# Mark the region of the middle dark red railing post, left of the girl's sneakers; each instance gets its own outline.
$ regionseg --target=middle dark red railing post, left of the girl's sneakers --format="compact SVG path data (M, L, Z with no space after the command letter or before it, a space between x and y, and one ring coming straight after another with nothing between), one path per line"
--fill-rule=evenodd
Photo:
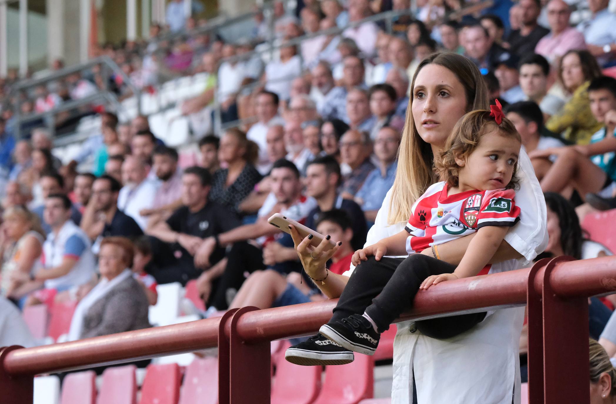
M229 401L225 403L269 404L270 402L272 383L270 342L244 342L237 332L237 322L241 315L253 310L259 309L242 307L233 313L229 320L229 361L227 362L229 363ZM220 351L219 347L219 361L221 361ZM219 404L222 403L219 399Z

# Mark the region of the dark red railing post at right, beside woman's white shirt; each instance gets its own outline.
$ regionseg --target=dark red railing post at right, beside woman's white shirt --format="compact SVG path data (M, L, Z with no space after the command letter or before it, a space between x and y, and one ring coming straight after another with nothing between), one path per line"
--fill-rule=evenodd
M572 257L556 257L543 275L543 374L545 404L589 404L588 297L556 296L550 275ZM532 403L535 404L535 403Z

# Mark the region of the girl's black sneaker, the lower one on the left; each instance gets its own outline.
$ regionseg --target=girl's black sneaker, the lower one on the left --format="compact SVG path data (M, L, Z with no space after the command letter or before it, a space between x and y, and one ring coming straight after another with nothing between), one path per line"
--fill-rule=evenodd
M353 362L355 356L350 350L317 334L289 347L285 352L285 359L302 366L346 365Z

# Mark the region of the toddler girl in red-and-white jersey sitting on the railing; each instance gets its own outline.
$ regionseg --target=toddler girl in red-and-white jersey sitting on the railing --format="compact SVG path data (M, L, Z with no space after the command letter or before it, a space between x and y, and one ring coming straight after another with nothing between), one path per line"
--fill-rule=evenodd
M513 199L521 138L513 123L504 118L498 101L491 110L472 111L456 124L445 151L435 162L443 181L429 187L413 204L405 229L355 252L354 265L373 265L375 270L384 271L395 268L386 286L375 288L366 279L349 293L344 289L332 320L316 336L290 347L285 354L289 362L298 365L352 362L352 352L344 349L372 355L380 334L412 305L416 291L444 280L473 277L488 264L508 228L516 224L520 215ZM457 267L439 261L439 244L474 232L477 235ZM430 249L432 257L415 254L424 249ZM386 254L404 253L410 256L401 262L383 258ZM372 298L368 307L353 307L353 299L345 298L368 295ZM337 320L337 310L357 314ZM452 324L450 329L434 337L463 333L484 317L485 313L471 314L466 321Z

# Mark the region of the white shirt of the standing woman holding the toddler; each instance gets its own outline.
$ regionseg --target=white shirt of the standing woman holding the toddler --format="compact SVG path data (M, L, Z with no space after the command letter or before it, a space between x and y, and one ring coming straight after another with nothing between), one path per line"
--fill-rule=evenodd
M493 264L490 273L527 266L548 244L546 206L532 164L524 151L519 158L521 188L516 192L521 220L505 240L523 257ZM400 232L405 222L387 224L391 190L387 192L366 245ZM344 275L350 276L354 267ZM394 341L392 403L411 403L413 370L420 404L511 404L520 402L519 336L524 309L496 310L466 333L439 340L411 332L412 321L398 324ZM514 388L515 387L515 388Z

